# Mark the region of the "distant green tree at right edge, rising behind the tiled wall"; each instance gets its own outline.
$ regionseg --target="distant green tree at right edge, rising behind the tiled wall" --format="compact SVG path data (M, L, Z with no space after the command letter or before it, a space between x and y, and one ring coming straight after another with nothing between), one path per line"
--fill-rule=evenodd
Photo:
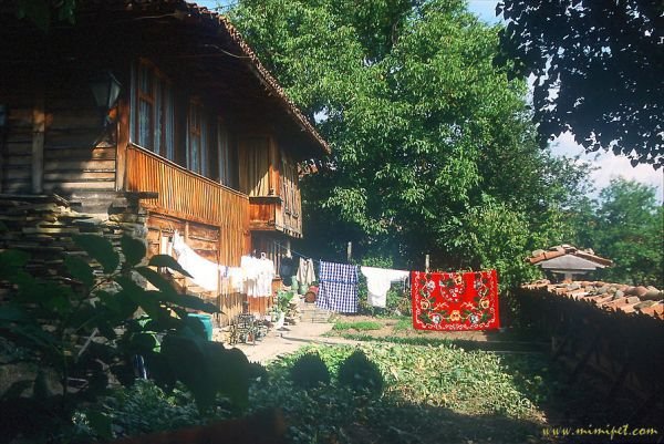
M605 279L664 286L664 213L654 187L612 179L600 193L595 227L592 247L615 262Z

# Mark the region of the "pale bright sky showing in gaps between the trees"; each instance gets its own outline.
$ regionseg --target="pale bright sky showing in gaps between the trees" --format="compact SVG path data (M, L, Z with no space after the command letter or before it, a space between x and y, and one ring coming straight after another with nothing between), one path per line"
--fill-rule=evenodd
M221 4L232 3L232 0L220 0ZM199 6L215 8L217 0L198 0ZM498 0L468 0L470 12L487 23L499 23L496 17L496 4ZM598 152L585 154L583 147L574 142L573 134L564 133L551 142L551 152L556 155L573 157L579 155L581 162L588 162L598 169L592 172L590 179L596 192L606 187L612 178L622 176L626 179L637 180L656 188L660 203L664 202L664 168L655 171L650 165L637 165L633 167L625 156L615 156L611 152Z

